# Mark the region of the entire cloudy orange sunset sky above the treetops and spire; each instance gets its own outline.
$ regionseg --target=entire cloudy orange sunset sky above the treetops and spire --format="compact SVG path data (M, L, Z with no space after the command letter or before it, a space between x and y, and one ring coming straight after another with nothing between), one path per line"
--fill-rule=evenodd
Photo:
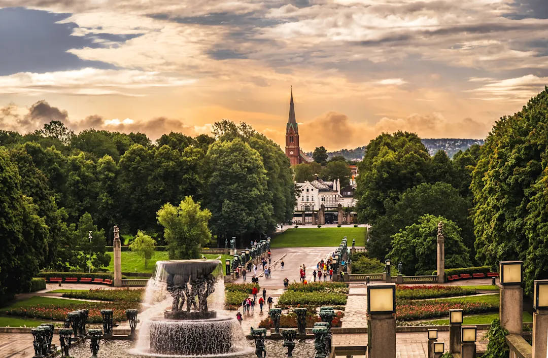
M546 0L0 0L0 129L210 133L301 148L484 138L548 84Z

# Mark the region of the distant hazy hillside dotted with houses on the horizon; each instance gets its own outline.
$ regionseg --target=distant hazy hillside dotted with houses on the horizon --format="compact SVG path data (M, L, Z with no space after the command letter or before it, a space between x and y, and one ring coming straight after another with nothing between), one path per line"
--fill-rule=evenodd
M421 139L430 155L436 154L437 151L445 151L449 158L453 158L459 151L466 151L470 146L474 144L483 145L483 139L459 139L459 138L440 138L440 139ZM347 160L362 160L363 153L366 147L358 147L356 149L341 149L336 152L328 152L329 158L335 155L343 155ZM312 152L306 153L306 155L312 158Z

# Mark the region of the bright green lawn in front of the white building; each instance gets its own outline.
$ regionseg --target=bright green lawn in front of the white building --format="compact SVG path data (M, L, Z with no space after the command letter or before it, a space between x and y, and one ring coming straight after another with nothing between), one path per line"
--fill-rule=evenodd
M367 228L305 228L287 229L272 239L271 247L330 247L339 246L344 236L348 246L356 239L356 246L366 243Z

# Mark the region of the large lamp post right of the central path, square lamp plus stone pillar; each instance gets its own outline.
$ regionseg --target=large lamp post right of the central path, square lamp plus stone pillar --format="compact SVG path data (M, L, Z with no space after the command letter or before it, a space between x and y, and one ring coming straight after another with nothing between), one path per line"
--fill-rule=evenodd
M367 286L369 358L396 358L396 284Z

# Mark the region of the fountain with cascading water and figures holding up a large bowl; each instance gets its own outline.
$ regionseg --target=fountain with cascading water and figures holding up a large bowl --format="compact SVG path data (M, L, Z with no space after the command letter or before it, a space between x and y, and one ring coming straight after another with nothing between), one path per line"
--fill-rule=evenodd
M219 356L250 350L235 317L214 310L224 308L222 264L218 260L158 261L146 289L145 304L151 306L150 312L161 314L158 310L162 309L163 317L142 318L135 354ZM165 305L169 307L165 309Z

